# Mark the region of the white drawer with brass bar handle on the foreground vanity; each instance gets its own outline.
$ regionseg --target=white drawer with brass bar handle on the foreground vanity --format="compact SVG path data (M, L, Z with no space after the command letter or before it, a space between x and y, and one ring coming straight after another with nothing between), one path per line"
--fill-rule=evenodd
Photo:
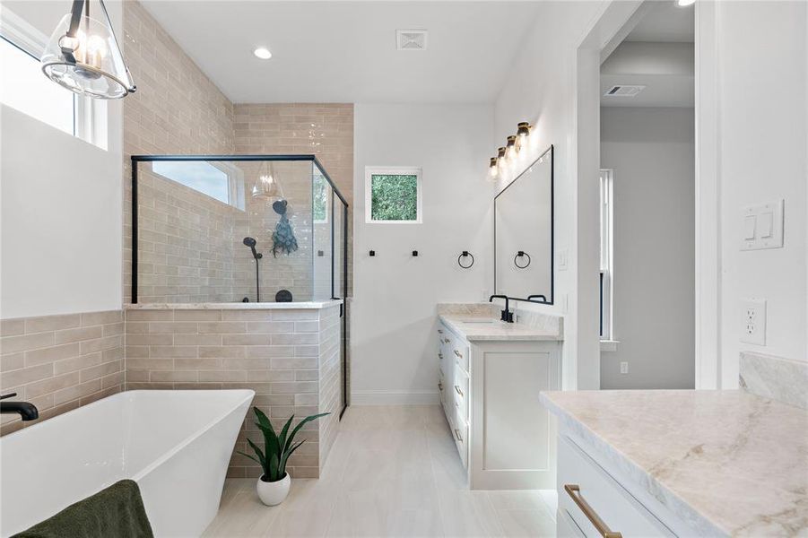
M626 538L674 535L603 467L565 436L559 437L558 487L559 511L566 511L585 536L603 535L606 532L604 526Z

